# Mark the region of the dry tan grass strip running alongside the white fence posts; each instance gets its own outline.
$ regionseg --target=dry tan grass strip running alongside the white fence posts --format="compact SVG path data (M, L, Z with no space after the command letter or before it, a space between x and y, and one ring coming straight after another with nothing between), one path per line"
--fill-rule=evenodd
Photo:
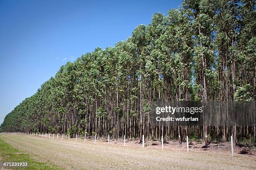
M159 150L87 141L57 140L24 135L0 134L0 138L34 162L61 169L256 169L252 155L230 156L227 152ZM2 142L2 141L0 141ZM2 142L3 143L3 142ZM17 150L10 150L15 154ZM1 159L8 157L1 154ZM15 160L13 157L11 160ZM2 161L1 160L1 161ZM19 160L19 159L18 159ZM17 161L18 161L17 160ZM2 161L2 162L3 162ZM9 161L9 160L8 160ZM39 165L38 165L39 166ZM40 168L38 168L40 169Z

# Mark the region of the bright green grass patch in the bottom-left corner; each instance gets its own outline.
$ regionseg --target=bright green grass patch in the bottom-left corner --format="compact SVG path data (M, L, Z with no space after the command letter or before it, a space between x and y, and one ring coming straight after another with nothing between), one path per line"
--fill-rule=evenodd
M13 148L0 137L0 162L27 162L28 167L21 168L21 170L61 170L61 168L53 165L50 161L46 163L38 162L32 158L33 155L24 153L22 150ZM20 169L20 167L12 167L13 169Z

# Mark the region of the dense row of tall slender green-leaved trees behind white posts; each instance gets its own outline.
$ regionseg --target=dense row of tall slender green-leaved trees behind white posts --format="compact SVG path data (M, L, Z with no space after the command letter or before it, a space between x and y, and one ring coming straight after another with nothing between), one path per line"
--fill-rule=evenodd
M10 112L0 131L166 140L256 138L255 127L154 126L150 103L255 100L254 0L184 0L155 13L126 41L96 48L61 66ZM207 144L207 138L205 138Z

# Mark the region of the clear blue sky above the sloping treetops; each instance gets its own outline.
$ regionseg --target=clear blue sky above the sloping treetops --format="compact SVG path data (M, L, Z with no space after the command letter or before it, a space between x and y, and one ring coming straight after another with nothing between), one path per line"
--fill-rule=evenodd
M0 124L67 61L126 40L181 0L0 0Z

